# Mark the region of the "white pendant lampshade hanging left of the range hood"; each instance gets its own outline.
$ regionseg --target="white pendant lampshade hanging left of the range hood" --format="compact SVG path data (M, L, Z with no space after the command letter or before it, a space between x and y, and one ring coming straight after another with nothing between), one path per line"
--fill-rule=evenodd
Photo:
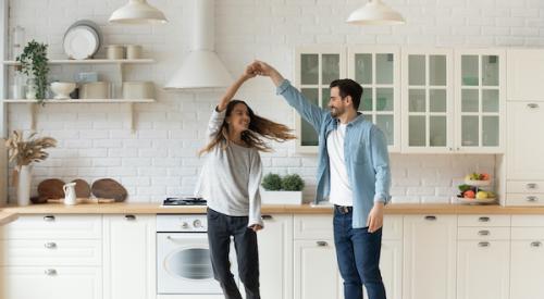
M146 0L128 0L128 3L111 14L108 22L120 24L156 24L168 23L168 20L160 10L149 5Z

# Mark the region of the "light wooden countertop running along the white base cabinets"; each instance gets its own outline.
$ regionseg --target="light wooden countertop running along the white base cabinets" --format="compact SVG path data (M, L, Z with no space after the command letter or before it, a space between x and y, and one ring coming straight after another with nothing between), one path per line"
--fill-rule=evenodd
M160 203L82 203L64 205L60 203L32 204L28 207L4 207L0 215L7 214L196 214L205 213L206 207L163 208ZM332 207L263 205L263 214L330 214ZM467 205L445 203L392 203L385 214L543 214L544 207L500 207Z

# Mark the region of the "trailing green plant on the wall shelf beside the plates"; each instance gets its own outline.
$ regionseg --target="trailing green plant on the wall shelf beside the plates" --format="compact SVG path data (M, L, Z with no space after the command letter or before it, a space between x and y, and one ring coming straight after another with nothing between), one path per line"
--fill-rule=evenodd
M47 74L49 72L49 59L47 58L47 45L32 40L23 49L23 53L16 58L21 62L21 71L27 76L27 99L36 99L44 104L47 91Z

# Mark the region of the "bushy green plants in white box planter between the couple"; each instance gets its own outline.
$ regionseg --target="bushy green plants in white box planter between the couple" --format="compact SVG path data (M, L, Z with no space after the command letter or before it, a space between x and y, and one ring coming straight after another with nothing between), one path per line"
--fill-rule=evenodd
M264 204L301 204L305 182L298 174L281 177L269 173L262 178L261 201Z

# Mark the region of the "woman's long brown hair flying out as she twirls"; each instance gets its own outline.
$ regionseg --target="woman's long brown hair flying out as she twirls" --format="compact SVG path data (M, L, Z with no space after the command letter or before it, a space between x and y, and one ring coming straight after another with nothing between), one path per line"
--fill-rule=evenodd
M263 140L262 137L274 140L279 142L283 142L289 139L295 139L296 136L290 132L292 129L286 125L282 125L264 117L261 117L254 113L251 108L245 102L240 100L232 100L226 105L226 114L221 128L218 134L213 137L213 139L201 149L198 154L202 154L205 152L211 151L214 147L218 147L222 144L223 149L226 148L228 144L228 124L226 123L226 119L231 115L234 110L234 107L238 103L245 104L249 114L249 126L247 130L242 133L242 140L249 148L256 148L259 151L272 151Z

